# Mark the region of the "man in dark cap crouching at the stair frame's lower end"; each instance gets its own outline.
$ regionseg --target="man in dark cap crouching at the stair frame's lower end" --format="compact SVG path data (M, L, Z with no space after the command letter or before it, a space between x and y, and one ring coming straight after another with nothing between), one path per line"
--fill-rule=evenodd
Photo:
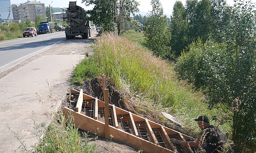
M202 144L203 149L207 153L219 153L222 152L224 149L224 145L227 142L227 137L221 131L218 126L212 126L209 123L209 119L206 116L199 116L197 121L198 126L202 130L201 133L198 135L197 139L194 141L180 141L177 139L170 139L175 144L196 147L199 143ZM227 149L227 148L226 148ZM233 152L233 149L229 147L227 153Z

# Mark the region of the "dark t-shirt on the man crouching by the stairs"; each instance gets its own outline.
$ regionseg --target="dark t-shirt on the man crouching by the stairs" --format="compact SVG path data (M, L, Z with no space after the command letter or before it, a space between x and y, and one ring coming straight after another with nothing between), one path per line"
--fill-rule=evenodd
M219 151L223 151L224 144L227 142L227 137L218 126L207 126L199 135L202 136L202 146L207 153L219 153ZM231 152L233 150L230 148L227 153Z

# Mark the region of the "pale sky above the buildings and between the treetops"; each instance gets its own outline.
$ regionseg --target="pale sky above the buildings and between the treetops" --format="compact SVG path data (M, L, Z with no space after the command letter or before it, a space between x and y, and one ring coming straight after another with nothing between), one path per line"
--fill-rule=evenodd
M32 0L30 0L32 1ZM59 8L67 8L69 7L69 1L72 0L36 0L37 2L40 1L41 3L45 3L45 6L51 5L52 7L59 7ZM75 0L73 0L75 1ZM159 0L159 2L162 4L163 12L169 17L173 12L174 4L177 0ZM19 3L25 3L26 0L11 0L11 4L19 4ZM138 7L140 11L142 12L148 12L152 11L151 6L151 0L137 0L137 2L140 3L140 6ZM186 0L181 0L182 4L185 5ZM78 0L76 2L78 6L83 7L84 9L88 10L92 7L85 7L84 4L81 3L81 0ZM233 0L227 0L228 5L233 5Z

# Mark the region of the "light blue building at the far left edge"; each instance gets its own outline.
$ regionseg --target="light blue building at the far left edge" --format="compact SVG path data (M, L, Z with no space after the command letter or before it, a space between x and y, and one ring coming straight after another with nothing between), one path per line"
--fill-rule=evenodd
M9 13L10 13L10 17L12 19L11 1L10 0L0 0L0 21L7 20Z

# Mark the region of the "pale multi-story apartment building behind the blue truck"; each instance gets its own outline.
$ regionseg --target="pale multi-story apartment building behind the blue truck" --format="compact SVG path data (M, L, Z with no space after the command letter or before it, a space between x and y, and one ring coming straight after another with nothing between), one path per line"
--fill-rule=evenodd
M36 15L46 18L45 4L40 1L28 1L18 6L15 5L12 7L12 13L14 20L26 21L26 19L29 18L32 22L35 22Z

